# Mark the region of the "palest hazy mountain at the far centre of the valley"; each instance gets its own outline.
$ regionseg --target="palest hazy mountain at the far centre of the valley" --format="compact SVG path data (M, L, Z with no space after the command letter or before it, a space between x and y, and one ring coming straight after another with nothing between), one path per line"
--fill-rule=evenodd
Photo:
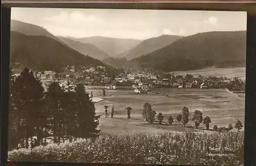
M108 53L112 57L117 57L119 53L131 49L132 47L139 44L140 40L135 39L117 39L109 37L88 37L88 38L71 38L73 40L93 44L104 52Z

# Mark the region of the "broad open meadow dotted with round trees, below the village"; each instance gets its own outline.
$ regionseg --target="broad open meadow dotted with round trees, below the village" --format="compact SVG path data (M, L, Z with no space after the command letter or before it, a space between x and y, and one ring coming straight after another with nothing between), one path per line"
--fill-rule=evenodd
M94 90L95 93L101 93L101 90ZM211 118L210 128L214 125L228 126L240 120L244 123L244 105L245 94L238 93L236 95L221 89L153 89L159 92L158 95L153 94L129 94L132 90L106 90L106 97L103 101L96 103L96 113L101 115L100 129L102 132L120 133L120 132L154 132L158 130L184 131L186 128L179 125L176 120L177 114L181 113L182 107L187 106L190 112L190 118L194 111L201 110L203 117ZM156 113L163 113L164 122L169 116L173 116L175 122L172 126L148 124L143 121L141 112L143 104L148 102L152 104L152 108ZM105 118L104 105L109 105L109 114L111 114L112 106L114 106L114 118ZM127 119L125 108L131 106L131 119ZM188 126L194 126L190 120ZM203 124L199 128L205 128ZM191 129L191 128L188 128ZM196 130L196 129L192 129ZM202 130L197 130L202 131Z

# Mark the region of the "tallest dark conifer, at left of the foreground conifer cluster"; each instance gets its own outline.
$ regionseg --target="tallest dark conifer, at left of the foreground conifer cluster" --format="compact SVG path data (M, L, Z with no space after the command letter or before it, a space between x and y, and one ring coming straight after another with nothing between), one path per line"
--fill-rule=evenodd
M40 103L44 96L44 88L40 80L28 68L24 68L12 83L11 108L15 109L14 113L17 118L16 122L14 121L17 127L17 142L24 144L23 140L25 140L25 148L29 148L29 140L33 145L33 136L39 136L40 123L38 121L41 115Z

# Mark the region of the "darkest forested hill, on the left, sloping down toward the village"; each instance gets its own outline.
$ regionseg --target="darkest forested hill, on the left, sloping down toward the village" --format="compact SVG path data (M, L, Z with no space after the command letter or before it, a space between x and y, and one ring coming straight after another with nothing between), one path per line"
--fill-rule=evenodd
M46 36L28 36L11 31L11 67L59 72L67 65L106 66Z

